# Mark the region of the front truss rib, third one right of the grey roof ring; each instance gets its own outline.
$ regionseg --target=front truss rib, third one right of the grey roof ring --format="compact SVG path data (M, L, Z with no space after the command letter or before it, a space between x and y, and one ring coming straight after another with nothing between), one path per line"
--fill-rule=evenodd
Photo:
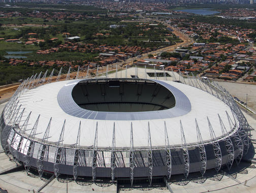
M233 162L234 162L234 156L235 156L234 146L233 146L233 143L232 143L232 141L231 141L231 139L228 135L228 132L226 130L226 127L223 124L219 114L218 114L218 117L219 117L219 124L220 124L220 127L221 127L222 135L225 136L224 141L225 141L226 148L227 148L227 151L228 151L227 167L230 170L232 165L233 165Z

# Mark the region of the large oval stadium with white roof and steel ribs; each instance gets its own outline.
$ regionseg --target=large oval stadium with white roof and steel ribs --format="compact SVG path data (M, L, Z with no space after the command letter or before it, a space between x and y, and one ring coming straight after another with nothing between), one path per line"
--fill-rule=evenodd
M215 82L137 67L54 82L40 75L1 115L1 144L27 172L151 184L230 169L248 152L250 126Z

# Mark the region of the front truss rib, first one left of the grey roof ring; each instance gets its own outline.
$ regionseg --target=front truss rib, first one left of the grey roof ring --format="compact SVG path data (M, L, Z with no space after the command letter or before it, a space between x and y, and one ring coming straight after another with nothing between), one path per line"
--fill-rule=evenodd
M51 120L52 118L50 118L50 121L47 125L46 131L44 133L44 137L40 143L40 147L38 150L38 156L37 156L37 169L38 169L38 173L40 175L40 177L42 178L43 173L44 173L44 165L43 162L46 161L48 159L48 147L46 145L46 143L48 142L49 137L49 132L50 132L50 127L51 127Z

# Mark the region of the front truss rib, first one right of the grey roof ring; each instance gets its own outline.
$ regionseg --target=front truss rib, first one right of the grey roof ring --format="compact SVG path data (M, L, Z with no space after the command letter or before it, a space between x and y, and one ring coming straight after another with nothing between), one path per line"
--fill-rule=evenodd
M200 162L201 162L201 168L200 168L200 173L202 174L202 176L205 174L206 171L206 164L207 164L207 157L206 157L206 151L205 151L205 147L204 147L204 142L201 136L201 132L198 126L198 122L197 119L195 119L196 121L196 128L197 128L197 140L198 140L198 148L199 148L199 153L200 153Z

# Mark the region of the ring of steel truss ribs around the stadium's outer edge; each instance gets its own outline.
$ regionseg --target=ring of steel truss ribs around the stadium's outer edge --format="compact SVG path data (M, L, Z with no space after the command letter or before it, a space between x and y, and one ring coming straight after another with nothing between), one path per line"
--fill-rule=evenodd
M58 73L58 77L57 77L56 81L58 81L60 79L61 69ZM71 67L69 68L69 72L66 77L66 80L70 79L70 70L71 70ZM116 65L116 77L117 77L117 71L118 71L118 66ZM164 71L164 78L165 78L165 80L167 80L167 77L165 74L165 69L163 69L163 71ZM54 69L51 72L51 75L48 78L47 82L51 82L53 72L54 72ZM86 77L88 75L88 72L89 72L89 66L87 69ZM135 73L136 73L135 75L138 76L137 66L135 67ZM173 70L172 70L172 73L173 73L174 79L176 80ZM26 117L25 120L22 120L22 117L24 117L23 114L24 114L25 109L23 109L22 112L20 113L21 105L19 106L19 101L17 101L17 99L20 96L20 94L22 94L23 92L26 91L26 89L34 88L37 85L39 85L40 83L43 83L43 81L45 81L45 79L46 79L46 75L47 75L47 71L45 72L41 81L40 81L40 77L41 77L41 73L40 73L38 76L36 74L36 75L31 76L30 78L26 79L24 82L22 82L22 84L17 88L13 97L10 99L10 101L8 102L8 104L6 105L6 107L4 109L4 116L5 116L4 118L7 118L7 120L9 119L9 123L7 125L12 125L11 130L10 130L10 128L5 126L5 128L2 132L2 136L4 135L3 133L5 133L5 134L7 133L7 129L9 132L5 139L4 149L7 152L10 149L9 147L14 146L14 144L15 144L15 148L12 148L12 154L13 154L14 158L19 158L18 152L23 151L23 154L24 154L23 155L23 158L24 158L23 165L26 170L26 173L29 172L30 159L34 154L35 136L38 135L36 132L37 132L40 115L38 116L33 128L27 129L31 112L28 114L28 116ZM79 68L78 68L76 78L78 78L78 75L79 75ZM179 72L179 75L181 76L180 72ZM219 86L215 82L210 82L208 80L201 80L198 76L196 78L193 73L192 73L193 79L191 79L188 76L187 72L186 72L186 75L187 75L186 82L185 82L185 79L183 78L183 76L182 76L182 78L179 76L180 80L183 79L182 82L184 84L200 88L200 89L210 93L211 95L214 95L219 100L226 103L232 110L234 122L231 119L231 117L229 116L228 112L226 111L230 129L231 129L231 131L234 131L231 137L229 136L227 129L226 129L225 125L223 124L221 117L218 114L220 128L221 128L221 132L222 132L222 136L223 136L223 139L221 139L221 140L223 142L225 142L225 146L226 146L227 153L228 153L226 165L227 165L228 169L230 170L233 165L234 159L235 159L236 163L239 164L242 156L246 155L246 153L248 152L249 145L250 145L250 126L249 126L248 122L246 121L240 108L238 107L238 105L236 104L236 102L231 97L231 95L227 92L226 89ZM97 67L97 73L96 73L97 78L98 78L98 76L99 76L99 66ZM108 76L108 66L107 66L107 71L106 71L106 77L107 76ZM154 68L154 76L157 79L157 74L156 74L155 68ZM125 77L127 77L127 66L125 66ZM146 74L146 66L145 66L145 78L146 77L147 77L147 74ZM51 125L51 120L52 119L50 119L50 121L48 123L46 131L44 133L44 137L40 143L40 147L39 147L39 151L38 151L38 155L37 155L37 158L38 158L37 168L38 168L40 177L42 177L43 172L44 172L44 162L48 162L49 145L47 143L48 143L48 139L50 138L49 130L50 130L50 125ZM214 150L214 156L215 156L214 168L216 171L219 171L221 168L221 164L222 164L221 148L219 145L219 141L217 141L217 138L215 136L214 130L212 128L212 125L211 125L208 117L207 117L207 121L208 121L208 126L209 126L209 131L210 131L211 144L212 144L212 147ZM199 153L200 153L200 162L201 162L200 173L203 176L206 172L206 166L207 166L206 149L204 146L204 142L203 142L203 139L201 136L201 132L199 129L197 119L195 119L195 122L196 122L196 130L197 130L197 146L196 147L198 147ZM21 123L22 123L22 126L19 127L19 125ZM66 155L65 155L66 152L65 152L65 148L63 148L63 136L64 136L64 131L65 131L65 124L66 124L66 120L63 123L62 130L61 130L61 133L59 136L59 140L58 140L57 146L56 146L55 156L54 156L54 175L56 177L58 177L60 174L59 166L62 164L63 165L66 164ZM10 137L10 132L12 131L12 128L15 130L16 134L13 137ZM172 154L171 154L171 147L170 147L170 143L169 143L169 137L168 137L167 126L166 126L165 121L164 121L164 130L165 130L165 151L166 151L166 156L167 156L166 176L168 179L170 179L171 174L172 174ZM187 176L189 174L190 160L189 160L188 146L186 144L181 120L180 120L180 130L181 130L181 149L182 149L182 154L183 154L183 159L184 159L183 174L184 174L185 178L187 178ZM25 138L25 133L27 133L28 131L30 131L30 134L27 138ZM78 134L77 134L77 141L75 144L75 152L74 152L73 175L74 175L75 180L78 177L78 166L86 166L86 160L85 160L85 158L83 158L84 155L82 154L83 151L80 150L80 131L81 131L81 121L79 123L79 130L78 130ZM8 141L10 141L10 145L8 144ZM234 145L233 145L232 141L234 142ZM24 146L24 148L23 148L23 146ZM130 136L129 153L130 153L129 154L130 155L129 156L130 180L131 180L131 185L133 186L134 169L135 169L135 163L137 162L137 159L135 159L134 139L133 139L133 123L132 122L131 122L131 136ZM115 180L116 167L122 166L121 165L122 163L120 164L120 160L119 160L120 154L121 154L121 152L116 151L115 122L114 122L113 135L112 135L111 163L110 163L112 181ZM102 151L100 151L100 150L98 151L98 122L97 122L96 130L95 130L95 137L94 137L94 144L93 144L93 157L92 157L92 179L93 179L93 181L97 177L97 167L106 167L106 163L105 163L106 158L104 158L104 156L105 156L105 154ZM152 152L149 122L148 122L147 159L148 159L148 178L149 178L149 183L151 185L152 177L153 177L153 152ZM225 161L223 161L223 162L225 162Z

